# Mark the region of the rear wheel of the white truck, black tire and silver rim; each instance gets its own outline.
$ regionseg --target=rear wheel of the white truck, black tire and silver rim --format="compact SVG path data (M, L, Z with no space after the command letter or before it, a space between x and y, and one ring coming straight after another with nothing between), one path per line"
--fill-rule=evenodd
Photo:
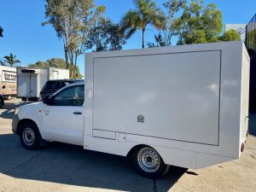
M163 177L170 166L166 165L154 148L140 146L131 154L131 162L136 171L143 177Z

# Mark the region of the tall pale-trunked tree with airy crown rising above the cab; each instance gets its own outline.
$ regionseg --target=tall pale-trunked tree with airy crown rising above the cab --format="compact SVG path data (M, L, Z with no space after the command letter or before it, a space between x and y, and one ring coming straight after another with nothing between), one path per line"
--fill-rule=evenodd
M105 11L104 6L96 6L94 0L46 0L45 18L42 25L52 25L57 36L63 39L66 68L77 65L77 58L83 54L90 29ZM71 72L76 73L76 72Z

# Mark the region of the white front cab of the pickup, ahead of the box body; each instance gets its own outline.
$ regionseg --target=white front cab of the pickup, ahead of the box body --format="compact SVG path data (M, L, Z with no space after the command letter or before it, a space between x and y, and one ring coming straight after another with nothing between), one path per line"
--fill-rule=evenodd
M39 128L40 135L48 141L59 141L83 146L84 132L84 83L74 83L57 91L44 102L35 102L16 108L13 124L20 119L31 119ZM61 121L60 121L61 120ZM20 130L13 131L20 134ZM35 137L24 135L24 144ZM31 146L30 148L35 148Z

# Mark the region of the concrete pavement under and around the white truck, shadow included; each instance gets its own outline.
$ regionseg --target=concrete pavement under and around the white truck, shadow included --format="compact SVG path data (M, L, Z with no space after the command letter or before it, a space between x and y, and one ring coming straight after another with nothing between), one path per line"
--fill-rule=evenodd
M256 114L239 160L200 170L172 167L158 180L141 177L124 157L52 143L21 147L11 131L14 101L0 109L0 191L256 191Z

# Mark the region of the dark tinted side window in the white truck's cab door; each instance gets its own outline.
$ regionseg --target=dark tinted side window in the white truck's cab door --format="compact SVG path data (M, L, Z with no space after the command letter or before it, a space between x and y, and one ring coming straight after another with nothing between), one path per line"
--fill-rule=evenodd
M55 96L55 106L82 106L84 103L84 85L69 87Z

